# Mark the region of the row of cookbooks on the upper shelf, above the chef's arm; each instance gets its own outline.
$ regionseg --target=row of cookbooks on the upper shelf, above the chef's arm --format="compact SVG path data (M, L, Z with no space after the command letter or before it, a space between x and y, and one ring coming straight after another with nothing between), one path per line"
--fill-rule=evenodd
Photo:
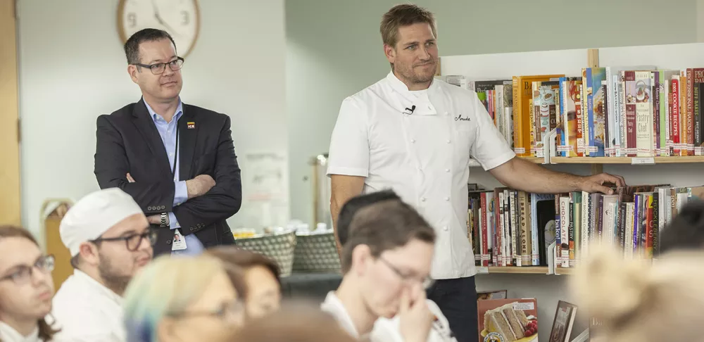
M583 68L581 75L522 75L451 84L477 92L494 123L522 157L543 157L557 128L563 157L701 156L704 68L654 65Z

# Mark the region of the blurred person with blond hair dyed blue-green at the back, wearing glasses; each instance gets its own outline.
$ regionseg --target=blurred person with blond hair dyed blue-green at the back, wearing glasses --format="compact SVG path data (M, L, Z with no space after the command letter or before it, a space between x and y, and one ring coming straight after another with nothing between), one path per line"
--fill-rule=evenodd
M244 304L209 255L162 255L125 292L130 342L229 342L243 322Z

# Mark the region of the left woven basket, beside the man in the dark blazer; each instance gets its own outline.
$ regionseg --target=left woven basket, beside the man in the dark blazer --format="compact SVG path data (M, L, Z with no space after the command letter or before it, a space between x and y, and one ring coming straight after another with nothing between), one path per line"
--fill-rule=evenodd
M234 239L234 243L245 251L260 253L274 260L279 265L281 277L291 275L296 248L295 231L238 238Z

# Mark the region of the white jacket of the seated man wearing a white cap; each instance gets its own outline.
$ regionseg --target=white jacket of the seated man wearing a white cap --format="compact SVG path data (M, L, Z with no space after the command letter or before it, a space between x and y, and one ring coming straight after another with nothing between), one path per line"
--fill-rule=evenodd
M125 342L122 297L74 270L56 292L53 315L61 331L54 341Z

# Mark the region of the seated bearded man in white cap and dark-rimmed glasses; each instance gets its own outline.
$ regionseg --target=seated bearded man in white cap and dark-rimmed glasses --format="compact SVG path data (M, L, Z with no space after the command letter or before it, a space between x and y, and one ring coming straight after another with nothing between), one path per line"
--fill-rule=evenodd
M83 197L59 226L73 274L54 297L58 341L125 341L122 296L152 258L155 235L142 209L112 188Z

